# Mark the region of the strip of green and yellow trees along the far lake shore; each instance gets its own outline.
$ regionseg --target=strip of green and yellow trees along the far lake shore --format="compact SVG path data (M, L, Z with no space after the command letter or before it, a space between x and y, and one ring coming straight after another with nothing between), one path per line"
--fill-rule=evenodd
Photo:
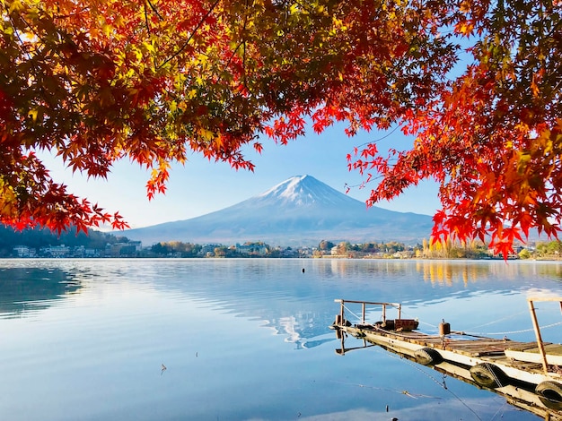
M41 247L66 245L69 248L107 249L108 245L128 245L127 236L90 230L62 233L58 236L48 229L14 230L0 227L0 257L14 255L14 247L25 245L39 250ZM125 250L125 248L124 248ZM332 242L322 239L316 247L271 246L264 242L246 242L238 245L199 245L189 242L159 242L135 253L121 253L124 257L322 257L337 256L349 258L426 258L426 259L485 259L493 257L487 245L481 241L467 243L435 242L424 239L421 244L406 245L397 241L364 242L352 244L348 241ZM562 254L559 240L538 242L525 247L519 246L512 257L520 259L558 259ZM117 254L119 256L119 252ZM111 255L115 257L116 255Z

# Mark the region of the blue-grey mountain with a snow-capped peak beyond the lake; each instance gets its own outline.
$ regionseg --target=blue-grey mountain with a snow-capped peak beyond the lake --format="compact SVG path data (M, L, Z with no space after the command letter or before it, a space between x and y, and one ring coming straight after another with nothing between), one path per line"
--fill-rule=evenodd
M313 176L294 176L265 193L222 211L137 228L121 234L145 245L159 241L269 245L318 245L332 242L402 241L428 237L427 215L387 211L357 201Z

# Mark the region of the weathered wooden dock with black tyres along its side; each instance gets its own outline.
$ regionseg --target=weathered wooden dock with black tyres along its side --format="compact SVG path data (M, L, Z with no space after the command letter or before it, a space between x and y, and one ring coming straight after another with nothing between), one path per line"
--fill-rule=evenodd
M558 368L562 362L562 345L543 342L534 311L536 301L558 301L562 309L562 297L528 300L536 342L467 335L451 331L445 322L439 326L439 335L430 335L417 331L417 320L401 318L400 304L342 299L336 300L340 303L340 312L329 328L342 339L339 354L346 352L343 347L345 336L364 339L419 364L494 390L506 399L528 402L531 408L548 411L546 416L538 415L562 420L562 370ZM353 324L346 319L347 305L361 305L359 322ZM380 321L365 321L367 305L382 308ZM398 312L395 319L387 317L391 308ZM553 414L557 417L553 418Z

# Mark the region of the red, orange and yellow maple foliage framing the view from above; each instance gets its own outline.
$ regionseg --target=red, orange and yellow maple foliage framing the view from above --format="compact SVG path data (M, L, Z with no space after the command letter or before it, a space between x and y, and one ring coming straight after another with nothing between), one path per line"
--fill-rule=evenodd
M507 251L560 223L560 4L451 0L0 0L0 220L78 229L110 215L36 152L105 177L118 159L165 190L195 150L251 170L245 147L400 129L349 166L368 204L434 178L434 237Z

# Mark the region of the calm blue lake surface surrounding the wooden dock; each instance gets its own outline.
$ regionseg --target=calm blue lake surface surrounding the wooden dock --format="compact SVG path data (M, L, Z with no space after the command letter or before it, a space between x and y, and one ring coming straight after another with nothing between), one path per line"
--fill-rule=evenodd
M0 260L0 419L539 419L379 347L340 356L328 326L334 299L390 301L423 331L534 340L544 295L562 264ZM557 305L537 305L552 342Z

